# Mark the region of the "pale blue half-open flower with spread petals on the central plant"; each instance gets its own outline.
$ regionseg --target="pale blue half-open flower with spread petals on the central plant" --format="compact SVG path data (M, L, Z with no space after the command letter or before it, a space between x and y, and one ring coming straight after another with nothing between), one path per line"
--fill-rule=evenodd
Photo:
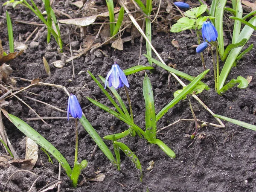
M126 87L129 87L125 73L120 69L119 65L116 62L114 62L114 64L111 67L111 70L108 72L105 81L105 88L107 85L107 81L109 87L113 85L115 89L123 87L124 84Z

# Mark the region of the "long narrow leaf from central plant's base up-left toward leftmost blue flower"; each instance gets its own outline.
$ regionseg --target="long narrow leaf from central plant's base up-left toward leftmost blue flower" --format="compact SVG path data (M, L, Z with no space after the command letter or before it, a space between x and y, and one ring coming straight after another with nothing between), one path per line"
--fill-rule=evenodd
M139 132L147 141L150 141L149 137L145 134L145 132L140 127L131 122L131 120L125 118L124 116L121 116L119 113L116 113L116 111L113 111L112 109L108 108L105 105L102 105L100 102L97 102L94 99L91 99L90 97L86 98L94 105L98 106L99 108L102 108L103 110L107 111L108 113L111 113L113 116L117 117L121 121L130 125L136 132Z

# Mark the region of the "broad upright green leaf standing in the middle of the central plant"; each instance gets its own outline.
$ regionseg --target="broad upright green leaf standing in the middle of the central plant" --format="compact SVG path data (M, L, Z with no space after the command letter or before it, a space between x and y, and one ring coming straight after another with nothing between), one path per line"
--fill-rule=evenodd
M150 80L147 73L145 73L143 81L143 96L145 99L145 133L148 135L150 140L156 139L157 134L157 122L156 122L156 113L154 107L154 95Z

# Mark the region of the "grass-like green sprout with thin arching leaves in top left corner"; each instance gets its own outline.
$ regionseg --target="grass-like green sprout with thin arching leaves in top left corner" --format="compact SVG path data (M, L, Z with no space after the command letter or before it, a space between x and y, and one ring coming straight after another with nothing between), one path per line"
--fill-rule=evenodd
M47 43L50 42L50 34L52 34L53 37L55 38L55 41L57 42L58 46L60 47L60 50L62 51L61 33L60 33L57 19L55 17L55 14L52 10L51 5L50 5L50 1L49 0L42 0L42 1L44 2L45 10L47 12L47 20L44 18L44 16L42 15L42 13L38 9L38 7L35 5L35 2L33 0L30 0L30 2L32 3L32 6L34 8L31 5L29 5L29 3L26 0L19 0L19 1L9 0L9 1L6 1L6 3L3 3L3 6L5 6L9 3L12 3L12 7L15 7L18 4L21 4L21 5L29 8L47 26L47 30L48 30ZM52 21L55 24L56 32L52 27Z

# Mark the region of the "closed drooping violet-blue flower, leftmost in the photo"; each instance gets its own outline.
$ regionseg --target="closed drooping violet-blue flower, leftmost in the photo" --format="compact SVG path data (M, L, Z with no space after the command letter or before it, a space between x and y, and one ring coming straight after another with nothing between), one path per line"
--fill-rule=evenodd
M67 120L69 120L69 114L74 118L81 119L82 109L75 95L70 94L67 103Z

